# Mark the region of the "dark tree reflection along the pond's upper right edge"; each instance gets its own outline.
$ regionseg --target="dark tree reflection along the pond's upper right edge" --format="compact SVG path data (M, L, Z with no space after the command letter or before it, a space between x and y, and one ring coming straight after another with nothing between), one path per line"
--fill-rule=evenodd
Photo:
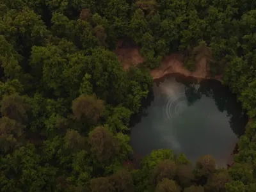
M214 99L220 112L227 111L228 121L234 134L237 137L244 134L248 115L243 110L241 102L237 100L236 94L232 93L227 86L214 79L205 79L199 84L193 77L175 76L175 80L184 84L189 106L201 99L203 95Z

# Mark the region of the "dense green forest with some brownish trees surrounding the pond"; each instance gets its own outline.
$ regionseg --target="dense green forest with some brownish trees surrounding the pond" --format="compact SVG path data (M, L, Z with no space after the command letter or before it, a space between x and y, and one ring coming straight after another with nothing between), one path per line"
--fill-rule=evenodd
M256 1L0 0L0 191L256 191ZM124 70L132 41L145 61ZM250 121L230 168L154 150L134 165L131 117L172 52L222 76Z

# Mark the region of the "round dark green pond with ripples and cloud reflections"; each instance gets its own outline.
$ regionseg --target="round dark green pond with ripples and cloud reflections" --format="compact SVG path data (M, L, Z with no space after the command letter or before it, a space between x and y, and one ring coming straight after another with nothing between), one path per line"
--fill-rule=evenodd
M169 76L154 83L154 97L131 129L131 145L140 156L170 148L195 162L211 154L218 166L230 162L248 117L236 95L215 80Z

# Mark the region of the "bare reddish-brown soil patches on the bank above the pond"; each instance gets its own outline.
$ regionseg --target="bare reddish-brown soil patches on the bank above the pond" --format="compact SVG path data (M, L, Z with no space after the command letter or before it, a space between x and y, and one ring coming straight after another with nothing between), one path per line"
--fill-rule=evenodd
M120 46L122 46L122 43L120 43ZM117 54L118 60L122 63L124 70L143 62L143 57L140 55L138 47L121 47L116 49L114 52ZM206 64L206 59L202 58L198 61L195 72L190 72L188 69L183 67L181 54L171 54L164 58L162 65L152 70L150 74L153 79L159 79L168 74L182 74L184 76L195 77L197 79L217 79L220 81L220 76L208 76Z

